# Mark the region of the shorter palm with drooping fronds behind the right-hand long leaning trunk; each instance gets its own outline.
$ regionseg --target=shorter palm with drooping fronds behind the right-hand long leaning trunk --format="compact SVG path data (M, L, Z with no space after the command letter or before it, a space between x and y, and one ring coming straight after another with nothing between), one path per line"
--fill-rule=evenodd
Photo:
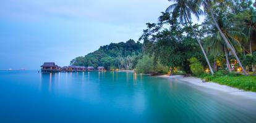
M224 35L228 38L229 42L239 52L242 52L241 43L242 41L247 40L247 36L239 31L236 27L231 26L230 23L225 23L227 21L223 20L223 18L218 18L218 25L220 25L221 30L223 31ZM210 20L205 20L203 23L205 26L210 27L210 38L205 39L205 47L206 49L210 50L210 53L213 55L220 55L224 54L226 57L226 64L229 71L231 71L229 59L228 59L228 50L226 47L226 43L221 38L220 32L215 28L210 26ZM204 28L207 28L204 27Z

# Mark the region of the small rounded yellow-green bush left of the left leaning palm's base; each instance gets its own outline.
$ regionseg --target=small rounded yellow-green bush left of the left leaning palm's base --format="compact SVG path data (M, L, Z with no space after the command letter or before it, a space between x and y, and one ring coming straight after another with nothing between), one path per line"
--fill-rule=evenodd
M189 59L189 62L192 74L194 74L195 76L200 76L201 74L203 74L203 65L197 60L197 58L192 57Z

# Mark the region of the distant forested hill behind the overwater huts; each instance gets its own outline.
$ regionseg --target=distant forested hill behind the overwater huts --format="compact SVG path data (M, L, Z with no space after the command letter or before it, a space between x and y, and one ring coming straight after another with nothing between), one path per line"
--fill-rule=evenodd
M142 54L142 44L130 39L127 42L111 43L100 49L77 57L70 65L104 66L106 69L134 69Z

